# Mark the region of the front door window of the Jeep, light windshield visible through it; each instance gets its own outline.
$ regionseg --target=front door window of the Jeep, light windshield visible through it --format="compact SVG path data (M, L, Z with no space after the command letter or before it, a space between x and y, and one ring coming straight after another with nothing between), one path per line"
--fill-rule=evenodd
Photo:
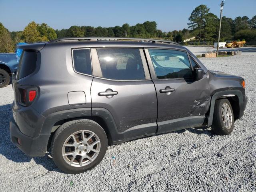
M192 78L188 54L177 50L149 49L158 79Z

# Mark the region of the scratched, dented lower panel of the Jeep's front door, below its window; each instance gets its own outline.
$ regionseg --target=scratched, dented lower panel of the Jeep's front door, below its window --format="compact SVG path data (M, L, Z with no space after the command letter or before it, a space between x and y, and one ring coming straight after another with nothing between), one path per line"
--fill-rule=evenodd
M153 80L158 96L158 120L162 122L189 116L205 116L210 106L210 86L207 75L201 80ZM171 94L160 93L166 86Z

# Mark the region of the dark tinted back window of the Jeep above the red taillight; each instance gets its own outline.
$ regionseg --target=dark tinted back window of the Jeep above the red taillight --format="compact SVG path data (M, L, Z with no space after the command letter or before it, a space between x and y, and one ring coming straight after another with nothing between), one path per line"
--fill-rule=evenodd
M36 52L23 51L20 57L17 79L24 78L36 70Z

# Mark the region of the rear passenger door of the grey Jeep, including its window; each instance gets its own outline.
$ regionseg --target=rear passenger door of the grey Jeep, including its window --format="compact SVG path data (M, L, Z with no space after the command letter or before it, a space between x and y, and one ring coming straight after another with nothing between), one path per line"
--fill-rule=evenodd
M157 99L142 49L91 49L92 110L104 108L128 138L156 132ZM114 129L114 128L113 128Z

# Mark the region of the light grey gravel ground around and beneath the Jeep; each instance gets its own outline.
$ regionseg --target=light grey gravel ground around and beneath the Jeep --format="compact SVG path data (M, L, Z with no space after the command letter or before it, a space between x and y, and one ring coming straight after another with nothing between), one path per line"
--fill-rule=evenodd
M256 191L256 54L200 60L246 80L248 106L231 135L189 128L110 146L83 174L64 174L49 154L29 158L10 142L13 91L0 89L0 191Z

